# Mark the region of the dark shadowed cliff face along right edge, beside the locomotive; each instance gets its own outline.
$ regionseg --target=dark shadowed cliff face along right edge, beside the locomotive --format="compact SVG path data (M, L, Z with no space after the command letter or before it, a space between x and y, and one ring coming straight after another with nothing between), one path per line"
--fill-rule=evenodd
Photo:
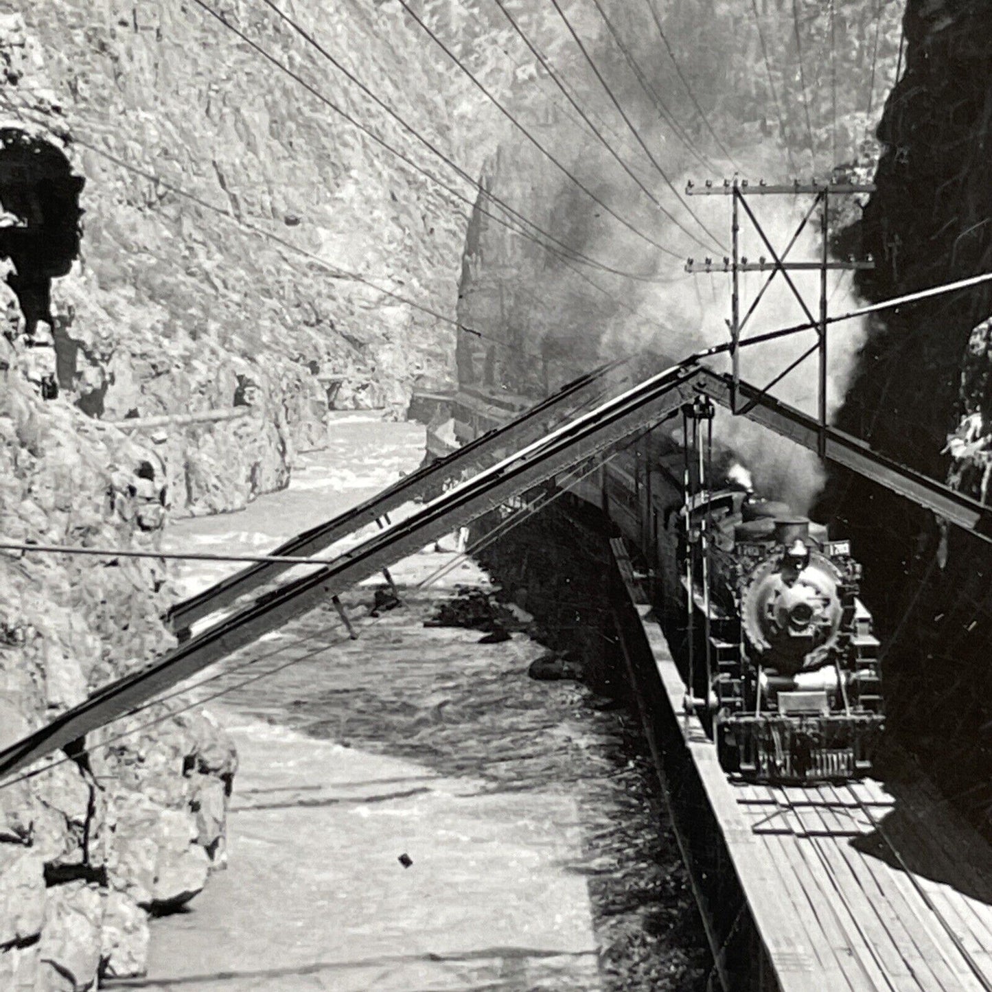
M992 261L987 11L911 0L905 27L905 71L879 128L878 192L849 232L878 262L859 281L871 299L987 272ZM986 503L990 303L977 288L886 313L840 416L876 448ZM824 507L863 549L866 598L891 642L891 722L987 825L988 546L856 478L834 476Z

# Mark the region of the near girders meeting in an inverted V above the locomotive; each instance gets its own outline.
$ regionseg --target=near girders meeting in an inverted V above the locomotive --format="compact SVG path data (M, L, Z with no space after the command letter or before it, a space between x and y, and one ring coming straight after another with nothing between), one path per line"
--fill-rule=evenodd
M740 389L748 400L756 401L749 419L816 449L819 428L815 420L746 383L741 383ZM731 380L686 361L538 438L456 485L407 520L392 524L332 563L263 594L145 670L104 686L51 723L3 749L0 777L12 775L84 737L444 534L601 455L631 434L650 428L677 413L700 391L729 406ZM505 435L502 442L506 442ZM826 456L992 541L992 513L988 509L949 486L885 458L857 438L829 429Z

